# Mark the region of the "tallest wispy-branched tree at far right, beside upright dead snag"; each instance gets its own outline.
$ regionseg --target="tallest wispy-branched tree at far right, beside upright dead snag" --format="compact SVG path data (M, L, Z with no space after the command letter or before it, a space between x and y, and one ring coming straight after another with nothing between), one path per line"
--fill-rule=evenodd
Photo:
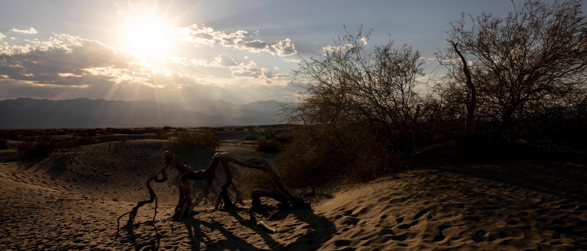
M470 60L475 117L497 122L500 140L515 140L517 121L585 99L587 19L581 1L527 1L505 18L463 14L451 25L450 40ZM467 104L463 62L453 47L437 54L448 74L436 87L444 101Z

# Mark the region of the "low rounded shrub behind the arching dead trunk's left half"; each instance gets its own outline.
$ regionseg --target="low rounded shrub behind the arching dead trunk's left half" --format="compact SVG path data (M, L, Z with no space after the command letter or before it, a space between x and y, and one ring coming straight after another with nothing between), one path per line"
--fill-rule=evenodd
M180 133L167 142L167 148L203 148L214 150L220 146L220 140L212 133Z

